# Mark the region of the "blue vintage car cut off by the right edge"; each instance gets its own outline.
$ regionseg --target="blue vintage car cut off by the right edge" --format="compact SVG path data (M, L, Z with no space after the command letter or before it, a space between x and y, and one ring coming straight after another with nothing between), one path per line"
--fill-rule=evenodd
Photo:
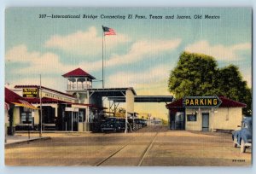
M233 146L235 148L240 146L241 153L245 153L246 148L252 147L252 125L252 118L244 117L241 121L241 130L232 133Z

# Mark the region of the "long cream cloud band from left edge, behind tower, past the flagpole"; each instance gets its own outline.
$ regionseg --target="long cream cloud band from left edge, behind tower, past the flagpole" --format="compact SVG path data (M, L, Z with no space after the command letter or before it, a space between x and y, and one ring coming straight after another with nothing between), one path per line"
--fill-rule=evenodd
M142 61L147 59L149 55L155 55L154 58L157 59L161 53L172 51L176 49L181 43L180 39L176 40L148 40L148 41L138 41L131 45L131 49L125 55L112 55L110 59L106 61L105 67L115 67L125 64L132 64L137 61ZM38 51L28 51L26 45L21 44L9 49L6 53L6 63L25 63L26 67L19 67L12 74L60 74L72 71L77 67L81 67L86 72L96 72L102 69L102 61L82 61L79 65L65 65L61 63L59 55L55 55L51 52L40 53ZM151 71L151 77L160 77L162 73L160 70ZM92 74L93 75L93 74ZM121 74L124 75L125 74ZM141 74L142 77L139 79L141 81L150 80L147 78L147 74ZM132 78L137 75L129 75L129 84L136 84ZM146 78L145 78L146 77Z

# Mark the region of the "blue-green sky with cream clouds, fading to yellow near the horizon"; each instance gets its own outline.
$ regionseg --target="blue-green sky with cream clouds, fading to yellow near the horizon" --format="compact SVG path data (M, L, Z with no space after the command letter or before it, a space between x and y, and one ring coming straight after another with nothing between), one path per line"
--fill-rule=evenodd
M171 96L167 79L183 51L212 55L218 67L234 64L252 86L252 9L249 8L9 8L5 20L5 83L67 88L62 74L80 67L102 79L102 25L105 37L105 87L133 87L138 96ZM39 14L87 14L97 19L39 18ZM100 15L125 15L101 19ZM127 19L133 14L133 19ZM147 19L134 19L135 15ZM175 19L149 19L149 15ZM203 19L194 19L202 14ZM204 15L220 19L204 19ZM190 15L179 19L177 15ZM81 17L82 17L81 16ZM94 82L101 88L101 82ZM108 107L108 106L107 106ZM137 113L166 119L165 103L136 104Z

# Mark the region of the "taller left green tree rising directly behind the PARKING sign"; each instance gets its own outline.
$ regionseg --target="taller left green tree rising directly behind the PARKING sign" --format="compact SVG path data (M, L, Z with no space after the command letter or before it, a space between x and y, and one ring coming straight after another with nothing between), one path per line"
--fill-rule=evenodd
M177 98L214 95L217 62L212 56L183 52L168 81L168 89Z

